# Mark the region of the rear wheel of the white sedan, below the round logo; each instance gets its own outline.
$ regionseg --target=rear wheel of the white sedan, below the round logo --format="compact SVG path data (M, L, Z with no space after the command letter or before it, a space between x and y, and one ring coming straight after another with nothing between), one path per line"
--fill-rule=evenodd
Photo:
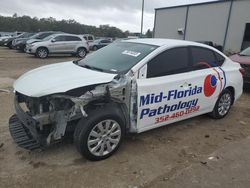
M232 93L228 89L223 90L214 106L213 111L210 113L210 116L214 119L224 118L230 111L232 104Z

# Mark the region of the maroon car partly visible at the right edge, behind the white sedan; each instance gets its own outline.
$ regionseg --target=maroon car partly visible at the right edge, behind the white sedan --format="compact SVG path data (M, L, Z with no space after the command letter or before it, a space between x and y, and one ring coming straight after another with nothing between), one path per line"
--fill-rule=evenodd
M243 80L245 84L250 84L250 47L238 54L230 56L230 59L240 63L240 65L245 69Z

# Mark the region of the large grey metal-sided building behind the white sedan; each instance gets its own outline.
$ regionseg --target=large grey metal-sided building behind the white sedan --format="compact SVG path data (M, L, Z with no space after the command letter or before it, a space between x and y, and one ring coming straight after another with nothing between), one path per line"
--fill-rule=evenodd
M250 46L250 0L157 8L154 37L212 41L225 52L239 52Z

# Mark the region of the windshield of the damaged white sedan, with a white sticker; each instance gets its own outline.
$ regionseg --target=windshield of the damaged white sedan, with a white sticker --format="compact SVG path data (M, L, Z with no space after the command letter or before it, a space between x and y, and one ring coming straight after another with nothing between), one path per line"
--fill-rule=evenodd
M104 72L126 73L156 48L148 44L117 42L91 53L78 65Z

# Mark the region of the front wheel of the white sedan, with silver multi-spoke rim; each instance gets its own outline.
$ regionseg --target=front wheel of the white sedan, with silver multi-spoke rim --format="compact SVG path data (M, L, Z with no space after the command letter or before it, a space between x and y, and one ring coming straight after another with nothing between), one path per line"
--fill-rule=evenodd
M125 134L125 120L121 114L116 106L105 106L88 112L88 117L78 122L74 132L77 150L91 161L113 155Z

